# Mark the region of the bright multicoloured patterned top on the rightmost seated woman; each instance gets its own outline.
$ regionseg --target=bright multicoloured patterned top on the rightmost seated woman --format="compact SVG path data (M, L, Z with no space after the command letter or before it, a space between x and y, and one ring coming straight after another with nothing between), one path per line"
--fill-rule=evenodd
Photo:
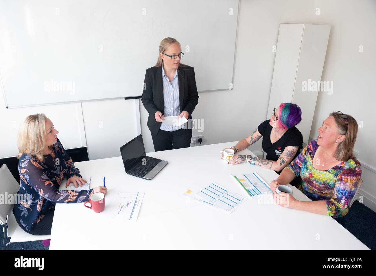
M313 167L313 158L318 149L317 141L312 141L302 153L286 168L295 176L302 177L299 190L311 200L324 200L327 215L342 217L349 212L349 204L354 197L362 174L361 165L355 157L346 162L319 171Z

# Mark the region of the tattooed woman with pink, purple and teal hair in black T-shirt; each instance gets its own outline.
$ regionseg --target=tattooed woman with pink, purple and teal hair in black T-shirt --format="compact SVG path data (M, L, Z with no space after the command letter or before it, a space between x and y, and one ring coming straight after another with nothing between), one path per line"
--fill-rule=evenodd
M263 136L262 150L266 153L266 159L240 154L230 159L229 164L247 162L279 174L303 148L302 133L295 127L301 120L302 111L298 105L281 103L279 108L273 109L270 120L262 122L251 135L231 147L237 153Z

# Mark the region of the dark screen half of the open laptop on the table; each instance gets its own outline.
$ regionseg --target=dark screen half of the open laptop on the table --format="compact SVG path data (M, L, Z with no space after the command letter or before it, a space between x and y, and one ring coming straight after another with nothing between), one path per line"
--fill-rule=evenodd
M121 158L123 158L125 171L129 171L142 158L146 156L142 135L138 135L120 148Z

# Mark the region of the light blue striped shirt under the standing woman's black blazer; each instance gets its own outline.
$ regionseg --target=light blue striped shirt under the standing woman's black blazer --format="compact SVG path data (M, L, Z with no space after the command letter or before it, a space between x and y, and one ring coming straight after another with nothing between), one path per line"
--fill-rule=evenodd
M171 82L168 80L162 66L162 80L163 80L163 115L164 116L179 116L180 115L180 99L179 99L179 78L177 77L177 69L175 76ZM183 125L171 126L170 124L162 123L159 129L172 131L181 129Z

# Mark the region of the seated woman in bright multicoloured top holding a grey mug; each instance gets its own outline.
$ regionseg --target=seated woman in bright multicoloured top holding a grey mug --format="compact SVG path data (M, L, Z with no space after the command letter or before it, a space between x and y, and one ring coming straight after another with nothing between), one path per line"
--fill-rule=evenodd
M309 143L278 179L270 183L275 202L335 218L346 215L362 174L361 165L353 155L357 132L358 124L350 115L329 114L318 129L317 141ZM299 190L312 202L275 193L278 184L285 185L299 175L302 177Z

